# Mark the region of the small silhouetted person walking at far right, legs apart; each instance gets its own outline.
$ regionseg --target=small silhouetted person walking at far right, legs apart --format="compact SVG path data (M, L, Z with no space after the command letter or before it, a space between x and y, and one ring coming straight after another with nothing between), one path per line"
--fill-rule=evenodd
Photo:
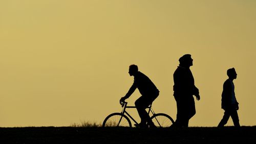
M239 117L238 117L238 102L236 95L234 94L234 83L233 80L237 79L237 72L234 68L229 68L227 70L228 79L223 84L223 91L221 94L221 108L224 109L224 115L219 123L218 127L224 127L227 124L229 116L233 120L235 127L240 127Z

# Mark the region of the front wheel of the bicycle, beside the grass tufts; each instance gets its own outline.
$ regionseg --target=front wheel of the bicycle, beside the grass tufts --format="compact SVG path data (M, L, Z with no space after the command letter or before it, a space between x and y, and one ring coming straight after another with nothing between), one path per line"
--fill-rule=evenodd
M130 119L122 113L112 113L103 121L102 127L132 127Z

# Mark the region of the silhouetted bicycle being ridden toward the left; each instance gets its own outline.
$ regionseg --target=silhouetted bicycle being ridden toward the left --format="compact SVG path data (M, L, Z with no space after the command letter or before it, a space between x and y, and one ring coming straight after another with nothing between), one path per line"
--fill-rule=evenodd
M132 127L132 121L138 125L138 122L126 111L126 108L136 108L135 106L127 106L127 102L120 103L122 106L121 112L115 112L108 116L103 121L102 127ZM168 114L165 113L155 113L152 104L147 107L148 114L152 114L151 119L152 122L156 125L156 127L170 127L174 120Z

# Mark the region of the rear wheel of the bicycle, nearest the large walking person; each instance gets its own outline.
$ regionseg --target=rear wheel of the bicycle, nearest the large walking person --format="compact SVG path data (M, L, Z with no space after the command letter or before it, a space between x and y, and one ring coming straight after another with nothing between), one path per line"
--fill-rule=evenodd
M152 122L161 128L170 127L174 123L174 119L165 113L157 113L151 116Z

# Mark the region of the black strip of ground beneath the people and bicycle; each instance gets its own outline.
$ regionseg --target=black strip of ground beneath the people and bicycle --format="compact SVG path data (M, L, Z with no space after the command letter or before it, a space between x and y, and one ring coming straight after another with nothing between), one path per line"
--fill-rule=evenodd
M256 143L253 127L138 129L102 127L0 128L0 143Z

